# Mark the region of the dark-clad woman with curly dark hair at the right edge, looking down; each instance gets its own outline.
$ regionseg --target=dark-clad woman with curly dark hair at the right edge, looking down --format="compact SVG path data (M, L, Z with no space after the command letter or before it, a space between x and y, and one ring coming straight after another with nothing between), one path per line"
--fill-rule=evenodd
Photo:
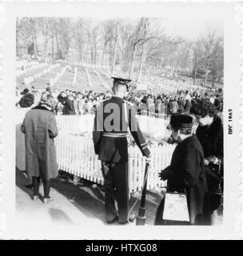
M191 113L199 124L196 134L205 154L205 172L213 214L221 204L221 178L224 175L223 124L217 116L216 107L208 100L195 102Z

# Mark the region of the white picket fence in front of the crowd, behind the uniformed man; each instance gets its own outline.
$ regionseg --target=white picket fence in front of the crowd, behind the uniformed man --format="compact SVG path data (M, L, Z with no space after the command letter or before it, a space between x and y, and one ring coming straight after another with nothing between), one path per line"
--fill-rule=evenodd
M80 130L87 124L85 116L58 116L58 137L55 139L57 148L58 165L60 170L65 170L80 178L91 182L103 184L101 161L94 154L94 144L90 130ZM79 121L78 121L79 118ZM94 117L93 117L94 118ZM169 144L158 145L154 143L151 148L151 162L148 176L148 189L156 190L165 186L158 174L166 166L169 166L174 146ZM129 146L129 192L141 191L145 171L145 158L142 157L137 146Z

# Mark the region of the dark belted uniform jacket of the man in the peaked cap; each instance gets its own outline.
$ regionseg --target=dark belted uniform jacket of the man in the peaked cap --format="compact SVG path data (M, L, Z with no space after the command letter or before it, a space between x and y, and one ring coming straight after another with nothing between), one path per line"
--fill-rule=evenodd
M132 103L120 97L111 97L99 103L94 118L94 150L106 162L128 162L126 136L128 128L143 156L149 156L145 138L135 118Z

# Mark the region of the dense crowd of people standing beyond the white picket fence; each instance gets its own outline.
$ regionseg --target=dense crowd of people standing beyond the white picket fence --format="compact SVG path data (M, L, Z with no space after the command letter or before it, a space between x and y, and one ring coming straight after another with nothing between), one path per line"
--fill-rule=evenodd
M98 103L106 98L110 98L112 93L96 93L94 90L74 91L74 90L58 90L36 89L34 86L24 89L22 92L18 89L17 106L30 107L38 105L42 94L50 94L55 99L54 113L64 115L82 115L94 114ZM220 92L213 94L199 94L198 92L190 92L188 90L178 92L178 94L149 94L147 92L130 91L125 96L125 100L132 102L137 109L137 114L147 114L157 118L164 118L170 114L189 114L193 102L207 100L217 108L218 112L223 110L223 97Z

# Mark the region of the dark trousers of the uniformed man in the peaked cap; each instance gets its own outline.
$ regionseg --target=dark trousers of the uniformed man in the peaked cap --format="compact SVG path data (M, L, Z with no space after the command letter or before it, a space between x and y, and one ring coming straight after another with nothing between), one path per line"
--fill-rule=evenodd
M102 162L102 174L105 180L106 221L112 221L118 215L118 222L127 222L129 207L128 163ZM115 208L118 202L118 210Z

